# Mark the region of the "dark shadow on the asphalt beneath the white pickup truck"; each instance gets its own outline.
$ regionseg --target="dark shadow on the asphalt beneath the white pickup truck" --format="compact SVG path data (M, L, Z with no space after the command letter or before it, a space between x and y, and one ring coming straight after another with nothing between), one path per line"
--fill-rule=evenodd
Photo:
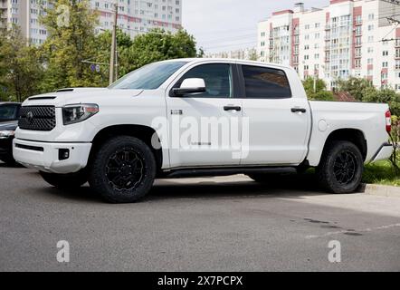
M53 197L104 203L100 194L85 185L80 189L48 187L41 193ZM148 197L140 202L183 198L305 198L329 194L321 189L313 174L287 175L262 184L252 179L215 181L214 179L158 179Z

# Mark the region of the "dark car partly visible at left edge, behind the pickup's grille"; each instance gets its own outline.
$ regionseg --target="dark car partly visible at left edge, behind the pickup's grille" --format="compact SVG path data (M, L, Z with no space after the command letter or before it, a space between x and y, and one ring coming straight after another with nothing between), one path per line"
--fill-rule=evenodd
M18 126L21 104L18 102L0 102L0 160L14 164L13 139Z

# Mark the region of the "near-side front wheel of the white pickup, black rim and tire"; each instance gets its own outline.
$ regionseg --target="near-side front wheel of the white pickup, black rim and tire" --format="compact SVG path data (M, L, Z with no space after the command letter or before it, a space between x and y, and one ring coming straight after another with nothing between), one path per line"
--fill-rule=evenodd
M89 172L90 188L108 202L136 202L152 188L156 160L142 140L115 137L104 143L94 156Z

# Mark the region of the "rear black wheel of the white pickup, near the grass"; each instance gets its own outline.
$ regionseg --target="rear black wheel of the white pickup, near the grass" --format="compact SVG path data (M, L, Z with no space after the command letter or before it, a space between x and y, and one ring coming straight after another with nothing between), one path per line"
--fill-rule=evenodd
M319 184L329 192L354 192L361 183L364 160L355 144L333 141L324 150L317 168Z

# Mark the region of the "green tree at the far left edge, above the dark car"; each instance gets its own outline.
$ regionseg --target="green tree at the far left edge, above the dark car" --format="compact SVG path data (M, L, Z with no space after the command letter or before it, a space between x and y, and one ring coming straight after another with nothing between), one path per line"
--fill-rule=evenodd
M26 97L39 92L38 83L43 67L38 60L36 47L17 27L0 34L0 97L5 101L23 102Z

